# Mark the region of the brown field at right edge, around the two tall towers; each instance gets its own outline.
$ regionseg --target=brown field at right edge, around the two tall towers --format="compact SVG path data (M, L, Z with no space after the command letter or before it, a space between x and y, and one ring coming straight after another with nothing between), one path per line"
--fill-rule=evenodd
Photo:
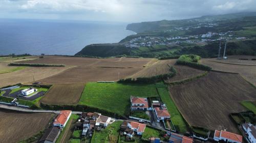
M256 66L231 65L231 64L225 64L225 63L212 62L214 60L215 59L203 59L201 63L212 67L214 70L239 73L246 80L256 85ZM221 62L222 61L225 62L225 60L221 60ZM243 62L244 64L244 60L233 60L232 62L234 64L237 64L236 61L240 61L240 62L237 62L238 64L241 64L241 62ZM247 64L253 64L255 61L248 61L248 62L250 63L247 63Z

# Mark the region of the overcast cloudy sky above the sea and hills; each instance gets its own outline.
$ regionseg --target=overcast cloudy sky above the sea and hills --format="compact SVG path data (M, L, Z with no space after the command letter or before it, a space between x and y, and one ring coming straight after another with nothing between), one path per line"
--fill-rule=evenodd
M140 22L256 11L256 0L0 0L0 18Z

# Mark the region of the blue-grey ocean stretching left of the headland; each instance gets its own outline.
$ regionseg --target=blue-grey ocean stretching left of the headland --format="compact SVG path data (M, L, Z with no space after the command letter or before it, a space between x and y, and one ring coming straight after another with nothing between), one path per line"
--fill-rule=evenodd
M84 46L116 43L135 34L127 23L0 19L0 55L74 55Z

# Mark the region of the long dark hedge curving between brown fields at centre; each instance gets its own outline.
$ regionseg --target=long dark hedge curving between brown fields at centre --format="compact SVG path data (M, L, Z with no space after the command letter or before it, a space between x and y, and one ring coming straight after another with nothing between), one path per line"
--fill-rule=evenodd
M168 65L168 67L170 68L169 69L170 73L160 74L160 75L156 75L156 76L152 76L152 77L138 77L136 79L134 79L134 78L120 79L117 82L118 83L155 83L155 82L160 82L167 78L172 78L176 75L177 70L173 66Z

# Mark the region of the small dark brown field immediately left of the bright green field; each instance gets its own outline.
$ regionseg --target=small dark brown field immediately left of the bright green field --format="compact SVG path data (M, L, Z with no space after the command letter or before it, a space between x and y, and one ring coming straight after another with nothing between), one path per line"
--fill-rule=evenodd
M40 102L52 105L74 105L79 101L83 89L84 84L53 85Z

